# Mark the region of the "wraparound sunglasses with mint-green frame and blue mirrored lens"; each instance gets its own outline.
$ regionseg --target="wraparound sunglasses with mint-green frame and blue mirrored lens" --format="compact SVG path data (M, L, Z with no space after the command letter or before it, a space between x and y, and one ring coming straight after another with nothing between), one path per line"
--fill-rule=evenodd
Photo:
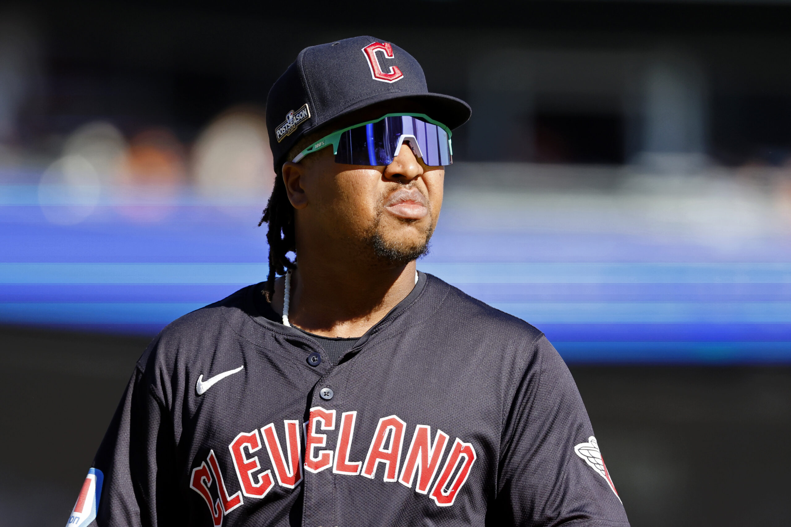
M388 114L375 121L361 122L322 137L293 159L303 157L329 145L335 163L383 167L391 164L404 142L415 156L430 167L452 164L451 132L441 122L424 114Z

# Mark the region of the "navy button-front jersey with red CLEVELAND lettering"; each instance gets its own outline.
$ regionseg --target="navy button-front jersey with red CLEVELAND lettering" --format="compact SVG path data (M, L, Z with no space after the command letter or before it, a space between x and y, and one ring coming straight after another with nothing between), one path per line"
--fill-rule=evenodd
M152 342L69 525L629 525L538 329L419 273L331 359L261 302Z

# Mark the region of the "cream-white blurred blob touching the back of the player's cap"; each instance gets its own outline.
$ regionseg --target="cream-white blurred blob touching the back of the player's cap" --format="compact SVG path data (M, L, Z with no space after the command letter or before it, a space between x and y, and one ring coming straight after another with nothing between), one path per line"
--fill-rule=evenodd
M263 116L252 111L221 115L195 141L192 170L199 192L226 205L266 200L274 171Z

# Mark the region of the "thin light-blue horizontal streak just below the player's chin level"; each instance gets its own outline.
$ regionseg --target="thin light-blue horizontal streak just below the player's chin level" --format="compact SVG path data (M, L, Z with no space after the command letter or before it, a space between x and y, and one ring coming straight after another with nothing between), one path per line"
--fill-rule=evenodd
M784 263L522 263L418 265L452 284L791 284ZM0 263L6 284L249 283L265 264L242 263Z

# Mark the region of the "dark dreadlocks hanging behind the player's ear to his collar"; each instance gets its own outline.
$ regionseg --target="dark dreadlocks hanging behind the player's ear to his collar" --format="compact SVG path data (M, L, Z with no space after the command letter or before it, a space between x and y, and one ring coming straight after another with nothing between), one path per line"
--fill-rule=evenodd
M278 274L286 274L290 269L296 269L297 264L292 262L286 254L297 249L297 235L294 232L294 209L286 194L286 183L283 183L282 174L274 178L272 194L267 201L267 208L263 209L263 216L258 222L269 224L267 243L269 244L269 276L263 295L267 302L274 296L274 278Z

